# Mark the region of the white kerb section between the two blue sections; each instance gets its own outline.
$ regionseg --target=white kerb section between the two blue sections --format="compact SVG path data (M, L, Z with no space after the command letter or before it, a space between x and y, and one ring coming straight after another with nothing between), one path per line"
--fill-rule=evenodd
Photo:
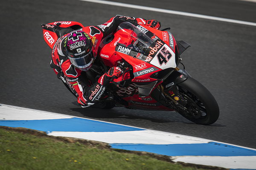
M125 131L125 132L52 132L48 135L82 138L101 141L109 144L202 144L210 140L190 138L174 133L161 133L153 130Z

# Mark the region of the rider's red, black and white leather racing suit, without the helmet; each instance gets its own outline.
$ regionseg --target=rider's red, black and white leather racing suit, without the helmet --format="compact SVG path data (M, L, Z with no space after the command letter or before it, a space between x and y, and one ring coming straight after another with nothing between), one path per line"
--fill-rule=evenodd
M93 55L96 58L102 39L115 32L120 23L130 22L134 25L145 25L146 21L147 20L142 18L116 15L106 23L98 26L86 26L82 28L82 31L90 36L93 43ZM67 35L60 37L55 43L52 50L50 66L53 68L58 78L76 95L78 103L81 104L81 106L87 107L97 102L105 92L104 78L101 77L98 82L91 84L89 80L81 76L82 71L74 67L70 63L70 60L64 55L62 40L65 39L65 36Z

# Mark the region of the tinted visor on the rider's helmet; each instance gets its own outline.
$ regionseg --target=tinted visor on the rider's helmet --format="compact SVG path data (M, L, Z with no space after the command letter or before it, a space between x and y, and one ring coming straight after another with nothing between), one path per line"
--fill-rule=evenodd
M93 63L93 55L90 51L87 55L81 56L79 58L69 57L70 62L79 69L86 69Z

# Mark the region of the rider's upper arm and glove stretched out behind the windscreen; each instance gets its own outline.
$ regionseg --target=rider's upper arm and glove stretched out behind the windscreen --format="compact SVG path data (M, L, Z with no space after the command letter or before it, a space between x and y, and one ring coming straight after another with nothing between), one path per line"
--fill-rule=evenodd
M129 22L134 25L140 24L140 25L151 26L155 29L159 29L161 26L160 22L158 22L157 20L145 20L143 18L125 17L122 15L116 15L115 17L112 17L107 22L101 25L98 25L96 27L102 30L103 38L104 38L110 35L111 33L115 32L119 24L122 22Z

